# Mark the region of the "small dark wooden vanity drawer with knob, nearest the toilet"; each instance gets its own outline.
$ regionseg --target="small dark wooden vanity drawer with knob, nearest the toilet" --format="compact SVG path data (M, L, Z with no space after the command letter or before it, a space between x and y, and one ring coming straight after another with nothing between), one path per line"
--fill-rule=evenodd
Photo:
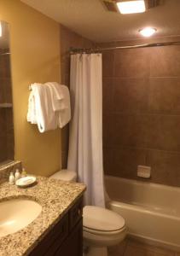
M83 215L83 197L81 197L69 211L69 230L72 230L75 224Z

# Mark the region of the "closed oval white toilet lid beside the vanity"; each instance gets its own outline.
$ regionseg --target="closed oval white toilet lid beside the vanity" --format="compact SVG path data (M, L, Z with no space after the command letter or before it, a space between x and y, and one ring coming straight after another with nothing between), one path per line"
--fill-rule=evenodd
M90 230L115 231L125 226L125 219L102 207L87 206L83 209L83 225Z

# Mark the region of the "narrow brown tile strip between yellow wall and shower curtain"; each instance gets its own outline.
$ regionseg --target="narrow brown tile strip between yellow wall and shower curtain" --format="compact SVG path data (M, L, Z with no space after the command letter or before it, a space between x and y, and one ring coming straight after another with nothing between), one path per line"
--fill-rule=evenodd
M69 49L90 48L93 43L69 30L66 26L60 26L61 30L61 84L70 85L70 55ZM67 168L69 127L66 125L61 132L61 158L62 168Z

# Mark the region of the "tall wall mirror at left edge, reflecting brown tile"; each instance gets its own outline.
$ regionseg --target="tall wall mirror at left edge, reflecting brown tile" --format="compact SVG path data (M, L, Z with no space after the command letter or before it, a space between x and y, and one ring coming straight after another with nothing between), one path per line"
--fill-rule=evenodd
M9 24L0 21L0 166L14 160L14 148Z

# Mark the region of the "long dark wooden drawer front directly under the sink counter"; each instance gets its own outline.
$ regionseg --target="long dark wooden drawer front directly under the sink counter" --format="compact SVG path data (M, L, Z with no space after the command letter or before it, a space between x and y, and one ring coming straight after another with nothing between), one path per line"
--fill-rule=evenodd
M68 236L68 214L49 231L49 234L30 253L30 256L51 256Z

